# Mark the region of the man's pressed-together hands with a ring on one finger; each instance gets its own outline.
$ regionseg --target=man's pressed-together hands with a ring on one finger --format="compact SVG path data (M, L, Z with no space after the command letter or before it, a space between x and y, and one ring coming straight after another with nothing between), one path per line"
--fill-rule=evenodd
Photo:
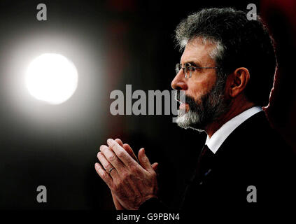
M97 174L110 188L116 209L139 209L151 197L157 197L157 163L150 164L141 148L138 158L128 144L108 139L101 145L94 165ZM139 159L139 160L138 160Z

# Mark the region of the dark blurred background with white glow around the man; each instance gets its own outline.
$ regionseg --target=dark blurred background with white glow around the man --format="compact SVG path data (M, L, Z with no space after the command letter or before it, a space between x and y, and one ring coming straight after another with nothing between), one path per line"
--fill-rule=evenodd
M112 116L112 90L171 90L181 53L174 29L200 8L255 3L277 41L279 72L267 109L272 125L295 144L295 3L291 1L42 1L48 20L36 20L40 1L0 1L0 209L114 209L94 171L106 139L159 162L160 195L178 207L185 179L205 135L182 130L171 116ZM60 53L76 64L78 89L50 106L22 82L31 59ZM46 186L48 203L36 202Z

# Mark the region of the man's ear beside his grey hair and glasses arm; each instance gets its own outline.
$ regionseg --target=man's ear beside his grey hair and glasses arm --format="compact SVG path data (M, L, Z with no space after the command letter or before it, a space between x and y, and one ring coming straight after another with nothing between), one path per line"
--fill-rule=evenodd
M230 79L230 97L235 98L243 92L248 84L248 80L250 80L248 69L244 67L235 69Z

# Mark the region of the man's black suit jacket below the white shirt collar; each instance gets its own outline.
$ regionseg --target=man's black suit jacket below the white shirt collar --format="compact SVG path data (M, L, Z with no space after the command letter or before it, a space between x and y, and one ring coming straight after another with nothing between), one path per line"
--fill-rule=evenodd
M274 208L295 203L295 155L270 127L263 111L239 125L209 164L188 185L181 209ZM247 191L248 186L256 188L255 203L247 201L249 193L251 199L255 197L254 188ZM141 209L168 208L152 199Z

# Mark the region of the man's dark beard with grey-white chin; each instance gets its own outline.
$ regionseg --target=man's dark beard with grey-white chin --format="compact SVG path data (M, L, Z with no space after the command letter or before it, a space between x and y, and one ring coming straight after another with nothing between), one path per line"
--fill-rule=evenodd
M176 123L184 129L192 128L204 132L206 125L213 123L219 116L229 109L229 102L224 99L225 83L217 80L216 85L200 97L197 102L192 97L186 96L189 111L178 115Z

